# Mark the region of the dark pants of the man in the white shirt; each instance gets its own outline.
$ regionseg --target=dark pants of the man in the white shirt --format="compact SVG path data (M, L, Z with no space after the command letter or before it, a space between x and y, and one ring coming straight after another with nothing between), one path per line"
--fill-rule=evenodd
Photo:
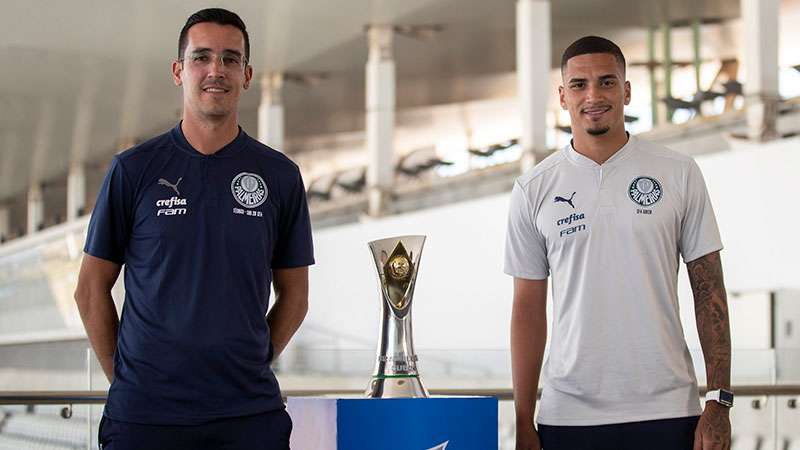
M539 424L543 450L692 450L699 416L613 425Z

